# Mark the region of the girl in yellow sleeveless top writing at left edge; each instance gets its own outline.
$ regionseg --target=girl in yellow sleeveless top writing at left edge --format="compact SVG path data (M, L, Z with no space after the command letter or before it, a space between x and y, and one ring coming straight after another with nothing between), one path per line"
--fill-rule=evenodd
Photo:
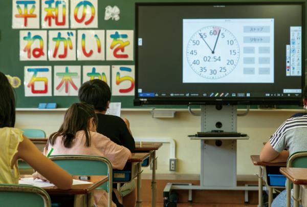
M7 77L0 72L0 183L18 184L17 160L23 159L33 169L60 189L70 189L73 179L35 147L15 126L15 97ZM38 177L33 174L33 178Z

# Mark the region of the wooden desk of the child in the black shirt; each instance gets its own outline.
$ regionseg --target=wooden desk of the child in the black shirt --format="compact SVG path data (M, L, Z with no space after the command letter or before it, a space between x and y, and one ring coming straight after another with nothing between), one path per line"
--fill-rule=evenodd
M152 178L151 178L151 206L156 207L156 150L161 148L163 143L161 142L136 142L136 152L149 152L149 163L152 162Z

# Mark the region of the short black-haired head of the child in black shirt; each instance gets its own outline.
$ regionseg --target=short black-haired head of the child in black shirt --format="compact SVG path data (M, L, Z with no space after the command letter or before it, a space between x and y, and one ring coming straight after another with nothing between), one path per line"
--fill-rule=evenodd
M94 79L84 82L78 94L81 102L89 103L97 111L106 111L107 102L111 100L111 90L106 82Z

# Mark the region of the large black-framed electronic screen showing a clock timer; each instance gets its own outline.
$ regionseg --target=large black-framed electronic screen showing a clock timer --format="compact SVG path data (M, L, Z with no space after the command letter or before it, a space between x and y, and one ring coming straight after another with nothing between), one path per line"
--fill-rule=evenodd
M298 105L304 2L137 3L135 105Z

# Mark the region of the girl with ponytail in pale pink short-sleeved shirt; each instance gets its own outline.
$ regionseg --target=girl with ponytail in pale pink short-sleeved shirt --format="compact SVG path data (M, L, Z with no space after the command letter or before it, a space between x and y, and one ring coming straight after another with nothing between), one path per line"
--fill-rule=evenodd
M97 116L94 108L87 103L73 103L66 111L59 130L50 135L44 154L53 148L53 155L93 155L106 157L115 169L123 169L131 152L96 132ZM114 189L116 191L116 189ZM115 198L115 194L113 194ZM122 206L117 199L113 206ZM96 206L107 205L107 193L94 191Z

